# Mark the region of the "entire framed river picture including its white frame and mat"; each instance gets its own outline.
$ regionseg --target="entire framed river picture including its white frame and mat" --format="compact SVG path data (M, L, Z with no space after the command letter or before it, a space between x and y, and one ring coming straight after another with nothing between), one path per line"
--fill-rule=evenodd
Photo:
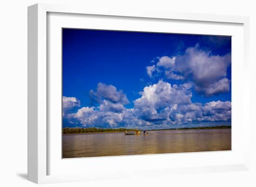
M28 179L246 170L248 22L28 7Z

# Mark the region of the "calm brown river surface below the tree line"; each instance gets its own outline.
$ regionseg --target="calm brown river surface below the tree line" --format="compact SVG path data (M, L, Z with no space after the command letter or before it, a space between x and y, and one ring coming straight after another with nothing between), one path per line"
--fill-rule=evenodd
M149 131L62 136L62 158L231 150L231 129Z

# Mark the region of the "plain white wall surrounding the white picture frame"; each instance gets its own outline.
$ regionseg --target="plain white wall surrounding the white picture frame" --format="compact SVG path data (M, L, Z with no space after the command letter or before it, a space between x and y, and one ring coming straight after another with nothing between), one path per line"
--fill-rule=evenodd
M251 70L251 121L256 103L256 5L252 0L2 0L0 2L0 186L35 186L27 181L27 6L38 2L80 3L83 6L101 6L127 9L147 8L155 10L216 13L250 16L250 70ZM163 176L135 181L97 181L43 186L58 187L128 187L147 186L256 186L256 132L251 127L250 171L213 174L187 174ZM128 183L127 183L128 182Z

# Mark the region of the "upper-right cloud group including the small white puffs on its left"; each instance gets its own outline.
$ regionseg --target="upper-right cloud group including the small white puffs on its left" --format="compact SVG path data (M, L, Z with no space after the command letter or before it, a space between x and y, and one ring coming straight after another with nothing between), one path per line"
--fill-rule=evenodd
M200 49L199 44L186 49L177 57L161 57L156 67L150 68L149 77L158 68L165 69L165 76L174 80L192 80L195 91L209 97L229 91L227 68L231 63L231 54L213 55ZM152 66L148 66L152 67Z

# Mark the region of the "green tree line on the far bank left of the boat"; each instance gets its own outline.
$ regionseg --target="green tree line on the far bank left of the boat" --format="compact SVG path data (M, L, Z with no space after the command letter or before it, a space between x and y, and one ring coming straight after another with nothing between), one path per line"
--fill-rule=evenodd
M63 128L62 134L85 134L85 133L103 133L103 132L125 132L125 131L135 131L138 129L100 129L100 128Z

